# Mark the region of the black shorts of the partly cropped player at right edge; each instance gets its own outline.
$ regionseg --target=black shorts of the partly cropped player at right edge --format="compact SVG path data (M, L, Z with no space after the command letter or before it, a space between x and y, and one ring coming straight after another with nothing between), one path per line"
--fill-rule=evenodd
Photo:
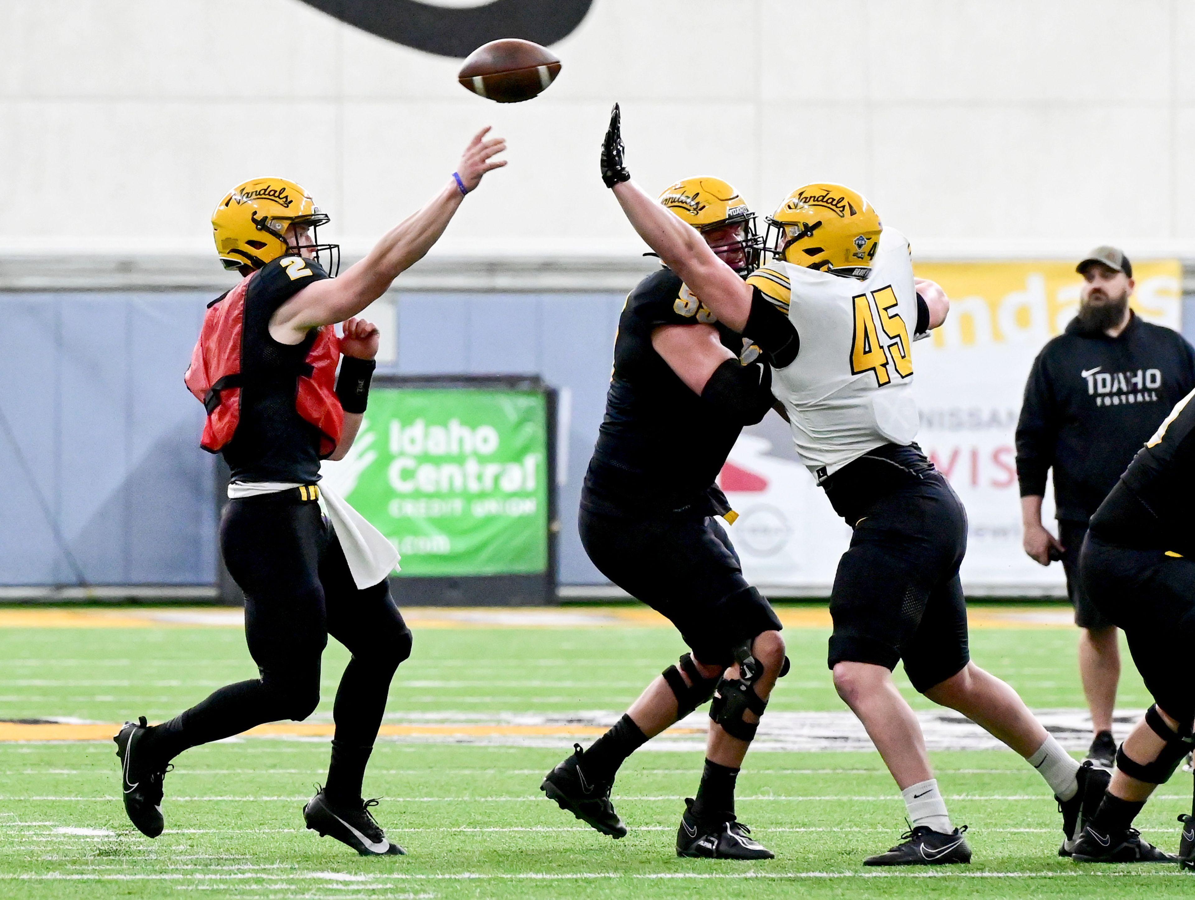
M1091 601L1124 630L1141 679L1158 705L1190 725L1195 688L1195 559L1133 550L1087 534L1079 562Z

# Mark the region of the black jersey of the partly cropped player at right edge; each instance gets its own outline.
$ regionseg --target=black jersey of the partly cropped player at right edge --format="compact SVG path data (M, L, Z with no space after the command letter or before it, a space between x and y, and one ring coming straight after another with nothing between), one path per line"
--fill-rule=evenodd
M1195 403L1191 391L1138 451L1091 516L1102 540L1195 556Z

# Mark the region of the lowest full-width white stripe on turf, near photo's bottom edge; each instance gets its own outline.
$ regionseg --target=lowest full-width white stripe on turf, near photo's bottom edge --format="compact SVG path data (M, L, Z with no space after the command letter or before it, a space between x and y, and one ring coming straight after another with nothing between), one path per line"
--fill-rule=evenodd
M582 881L588 878L633 878L633 880L739 880L758 878L764 881L795 881L799 878L1089 878L1089 877L1178 877L1187 878L1182 869L1172 871L1108 871L1092 869L1077 869L1076 871L742 871L742 873L635 873L623 874L615 871L603 873L441 873L441 874L415 874L415 873L376 873L370 875L351 875L349 873L311 871L289 873L286 875L274 875L270 873L121 873L112 875L87 875L82 873L0 873L0 881L335 881L345 884L355 883L368 886L379 884L387 881Z

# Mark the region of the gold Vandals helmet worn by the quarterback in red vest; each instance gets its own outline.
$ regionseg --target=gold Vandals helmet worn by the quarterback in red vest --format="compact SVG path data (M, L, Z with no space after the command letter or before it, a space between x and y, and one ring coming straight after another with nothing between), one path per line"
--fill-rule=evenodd
M238 184L212 214L216 253L226 269L261 269L280 256L317 259L329 275L341 265L341 247L320 244L329 218L307 191L286 178L252 178ZM294 226L289 240L287 228Z

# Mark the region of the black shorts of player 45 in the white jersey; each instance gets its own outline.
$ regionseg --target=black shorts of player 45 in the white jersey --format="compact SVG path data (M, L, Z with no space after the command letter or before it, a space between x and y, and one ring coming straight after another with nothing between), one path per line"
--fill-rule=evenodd
M829 667L905 661L925 692L970 660L967 601L958 567L967 552L967 513L938 472L869 506L834 576Z

